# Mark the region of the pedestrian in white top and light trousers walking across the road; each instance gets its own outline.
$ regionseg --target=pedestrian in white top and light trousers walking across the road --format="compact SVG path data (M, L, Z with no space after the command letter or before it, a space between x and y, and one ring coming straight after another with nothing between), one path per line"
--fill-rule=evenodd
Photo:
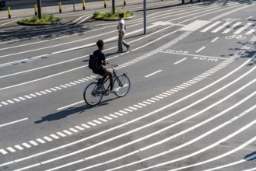
M119 53L123 52L123 45L124 47L127 48L127 51L130 48L130 44L126 43L123 38L124 38L124 33L125 33L125 23L124 23L124 13L120 13L118 15L118 25L117 25L117 30L118 30L118 51Z

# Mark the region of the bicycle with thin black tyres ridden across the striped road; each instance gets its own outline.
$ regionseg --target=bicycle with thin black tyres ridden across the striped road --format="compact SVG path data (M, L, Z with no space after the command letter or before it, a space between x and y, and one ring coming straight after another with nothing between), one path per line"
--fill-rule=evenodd
M126 96L130 90L131 82L126 72L117 72L117 65L112 65L107 62L112 68L113 86L117 89L114 92L116 96ZM84 89L83 99L89 106L95 106L100 103L103 96L108 96L110 93L110 84L105 88L104 84L109 80L109 77L102 82L100 75L96 78L97 82L90 82Z

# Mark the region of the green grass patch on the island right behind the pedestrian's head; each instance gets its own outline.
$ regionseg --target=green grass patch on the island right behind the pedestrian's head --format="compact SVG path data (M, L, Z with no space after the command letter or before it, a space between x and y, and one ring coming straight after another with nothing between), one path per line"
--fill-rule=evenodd
M95 19L118 19L120 11L116 11L114 14L112 12L94 12L93 16ZM124 18L133 16L132 12L124 12Z

